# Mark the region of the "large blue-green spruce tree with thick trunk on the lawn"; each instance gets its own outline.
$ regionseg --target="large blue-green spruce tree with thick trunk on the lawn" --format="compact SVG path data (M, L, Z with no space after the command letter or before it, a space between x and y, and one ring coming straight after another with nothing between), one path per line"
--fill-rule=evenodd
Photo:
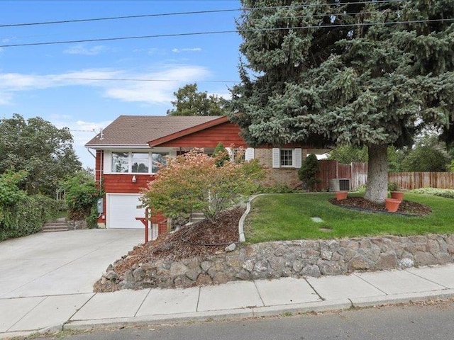
M242 2L232 119L250 145L365 146L365 198L382 203L389 145L453 136L454 1Z

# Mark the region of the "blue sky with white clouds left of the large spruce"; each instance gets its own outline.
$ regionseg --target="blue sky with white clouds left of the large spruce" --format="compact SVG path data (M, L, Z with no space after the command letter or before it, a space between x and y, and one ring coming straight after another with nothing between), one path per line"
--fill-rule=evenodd
M238 8L238 0L0 1L0 25ZM239 15L4 26L0 45L235 30ZM84 144L118 115L165 115L173 92L194 82L199 91L228 98L228 87L238 81L240 41L236 33L225 33L0 47L0 118L19 113L67 126L82 164L93 167Z

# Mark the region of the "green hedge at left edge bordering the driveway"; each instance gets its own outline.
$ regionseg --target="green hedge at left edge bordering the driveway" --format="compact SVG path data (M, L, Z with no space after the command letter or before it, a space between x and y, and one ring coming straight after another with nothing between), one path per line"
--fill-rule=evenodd
M45 196L27 196L18 187L24 171L0 175L0 241L33 234L57 213L57 202Z

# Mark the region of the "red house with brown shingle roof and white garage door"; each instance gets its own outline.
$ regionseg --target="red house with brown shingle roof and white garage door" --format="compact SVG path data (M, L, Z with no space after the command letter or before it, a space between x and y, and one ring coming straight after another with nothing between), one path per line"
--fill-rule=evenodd
M259 159L270 168L269 181L289 186L299 183L297 170L315 151L299 145L253 149L226 116L121 115L85 145L96 152L95 180L105 193L98 222L107 228L142 228L135 220L144 215L140 191L153 181L157 164L194 147L211 154L219 142L244 147L245 159Z

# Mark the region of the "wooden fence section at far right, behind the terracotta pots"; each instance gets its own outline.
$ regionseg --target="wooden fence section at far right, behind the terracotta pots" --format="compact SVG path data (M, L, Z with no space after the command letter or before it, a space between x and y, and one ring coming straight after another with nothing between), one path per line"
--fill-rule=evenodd
M454 188L454 172L390 172L388 182L397 188L412 190L419 188Z

